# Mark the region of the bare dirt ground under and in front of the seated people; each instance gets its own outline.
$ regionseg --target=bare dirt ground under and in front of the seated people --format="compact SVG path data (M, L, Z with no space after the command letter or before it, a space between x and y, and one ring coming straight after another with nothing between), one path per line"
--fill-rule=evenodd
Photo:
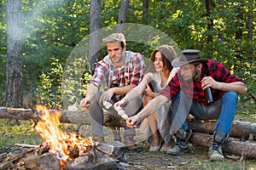
M88 127L82 127L80 133L84 136L90 135ZM120 130L120 135L124 130ZM241 156L226 156L224 162L213 162L208 160L208 149L193 146L190 144L191 151L184 156L170 156L162 152L149 152L149 144L142 133L136 129L136 141L139 146L143 147L143 152L126 153L128 170L154 170L154 169L249 169L256 170L256 160L244 160ZM105 141L113 141L113 133L109 127L104 127ZM232 165L232 166L230 166Z

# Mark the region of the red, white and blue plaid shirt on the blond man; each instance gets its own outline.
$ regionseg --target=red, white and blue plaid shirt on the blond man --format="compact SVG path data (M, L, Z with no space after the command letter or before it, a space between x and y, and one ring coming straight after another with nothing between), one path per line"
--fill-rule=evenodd
M95 73L90 83L94 83L98 88L104 84L104 89L113 87L124 87L134 85L141 81L145 67L143 55L131 51L125 51L125 65L116 67L107 55L104 59L96 63Z

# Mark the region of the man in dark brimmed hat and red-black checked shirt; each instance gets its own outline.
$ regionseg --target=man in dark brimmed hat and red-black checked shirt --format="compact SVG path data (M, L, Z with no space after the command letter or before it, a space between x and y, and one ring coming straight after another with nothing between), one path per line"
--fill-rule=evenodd
M209 157L212 161L223 161L221 144L230 134L236 115L237 94L247 93L245 83L240 77L232 75L220 62L201 59L198 50L184 50L179 58L173 59L172 66L180 67L180 71L169 82L169 87L137 116L128 118L127 126L136 127L145 116L154 113L160 105L172 99L171 130L175 133L177 142L166 153L179 155L189 151L191 131L188 129L186 117L190 113L202 120L218 119ZM207 88L211 88L212 101L206 97Z

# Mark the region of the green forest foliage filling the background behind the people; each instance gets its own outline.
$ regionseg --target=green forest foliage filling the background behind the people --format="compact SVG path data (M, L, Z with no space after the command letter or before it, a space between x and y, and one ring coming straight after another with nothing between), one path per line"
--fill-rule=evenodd
M101 1L102 28L117 24L120 2L120 0ZM249 41L247 38L247 15L250 8L253 8L253 18L255 19L255 4L243 0L217 1L214 4L211 13L207 14L203 1L149 0L148 18L143 18L143 1L131 0L126 22L152 26L171 37L177 42L179 48L200 49L202 57L223 62L230 71L244 79L249 88L249 94L255 95L255 27L253 28L253 41ZM23 94L30 93L33 96L44 94L45 99L49 98L46 99L47 102L54 99L55 104L51 105L61 107L63 105L63 101L61 101L63 94L59 93L61 74L56 73L60 66L52 65L52 63L57 60L60 65L66 65L73 48L89 35L90 1L23 0L22 5ZM242 19L237 18L238 11L243 14ZM2 19L0 20L0 59L3 61L0 63L2 82L0 84L0 104L3 104L7 56L6 0L0 3L0 16ZM207 28L209 19L213 21L211 30ZM253 25L255 26L255 21ZM242 31L242 38L236 39L236 31L239 30ZM207 42L208 36L212 37L212 42ZM154 49L153 44L154 42L149 45L140 42L127 42L127 49L140 52L149 58ZM107 50L102 49L99 59L106 54ZM78 63L74 65L78 65ZM88 75L92 73L86 66L79 69L87 72ZM79 73L79 76L81 75L83 74ZM83 77L81 78L83 79ZM87 83L81 85L83 81L79 81L77 77L75 80L68 81L70 81L68 82L70 87L66 89L65 93L68 95L65 94L67 99L64 102L67 105L72 105L84 95ZM38 85L40 86L38 87ZM76 91L77 94L68 92L73 88L79 89ZM40 89L39 94L36 89ZM49 93L55 93L54 95L57 96L50 96ZM244 98L249 98L249 95L247 94Z

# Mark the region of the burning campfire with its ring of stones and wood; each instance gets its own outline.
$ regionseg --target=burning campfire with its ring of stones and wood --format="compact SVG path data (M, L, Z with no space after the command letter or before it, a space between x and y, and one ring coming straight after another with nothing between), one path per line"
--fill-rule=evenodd
M119 141L98 144L91 138L84 139L76 133L65 133L60 129L61 111L50 112L44 105L37 105L37 114L38 120L34 120L34 128L42 137L43 144L20 144L29 149L22 150L22 153L18 154L1 154L4 161L0 160L0 169L124 169L127 167L125 144Z

